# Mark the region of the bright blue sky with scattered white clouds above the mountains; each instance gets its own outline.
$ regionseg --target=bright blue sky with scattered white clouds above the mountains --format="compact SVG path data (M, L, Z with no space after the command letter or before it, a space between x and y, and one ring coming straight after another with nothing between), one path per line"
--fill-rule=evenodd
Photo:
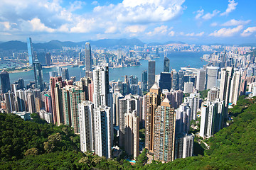
M0 41L256 42L255 0L2 0Z

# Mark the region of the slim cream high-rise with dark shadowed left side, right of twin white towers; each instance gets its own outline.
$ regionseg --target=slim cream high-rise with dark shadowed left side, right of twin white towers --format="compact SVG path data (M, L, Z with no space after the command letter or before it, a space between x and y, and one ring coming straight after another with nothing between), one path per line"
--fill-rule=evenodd
M134 159L139 156L139 117L136 110L124 114L124 150Z

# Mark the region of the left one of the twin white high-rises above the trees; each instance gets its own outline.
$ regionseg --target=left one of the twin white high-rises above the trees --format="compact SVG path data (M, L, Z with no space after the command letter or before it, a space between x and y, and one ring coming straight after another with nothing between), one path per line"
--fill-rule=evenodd
M93 103L82 101L78 104L80 147L82 152L95 151L95 128L93 119Z

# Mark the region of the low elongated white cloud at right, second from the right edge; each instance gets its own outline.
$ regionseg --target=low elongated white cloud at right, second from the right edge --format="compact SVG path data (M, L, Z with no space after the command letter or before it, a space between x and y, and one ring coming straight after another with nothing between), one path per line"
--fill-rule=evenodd
M243 26L237 26L235 28L221 28L220 30L215 30L213 33L210 33L210 36L214 37L232 37L240 30L242 30Z

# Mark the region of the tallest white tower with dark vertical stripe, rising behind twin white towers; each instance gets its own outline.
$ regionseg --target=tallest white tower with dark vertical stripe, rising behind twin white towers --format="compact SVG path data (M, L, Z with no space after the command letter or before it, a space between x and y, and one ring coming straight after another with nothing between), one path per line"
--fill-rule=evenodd
M109 103L109 71L108 67L97 67L93 70L93 103L95 108L110 106Z

